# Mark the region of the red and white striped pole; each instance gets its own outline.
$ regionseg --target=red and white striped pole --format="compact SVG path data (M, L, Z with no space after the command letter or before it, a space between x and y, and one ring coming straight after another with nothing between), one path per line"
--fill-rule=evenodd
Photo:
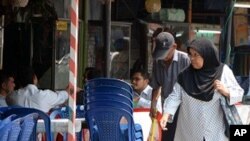
M71 0L70 9L70 61L69 61L69 126L68 141L75 141L76 91L77 91L77 54L78 54L78 0Z

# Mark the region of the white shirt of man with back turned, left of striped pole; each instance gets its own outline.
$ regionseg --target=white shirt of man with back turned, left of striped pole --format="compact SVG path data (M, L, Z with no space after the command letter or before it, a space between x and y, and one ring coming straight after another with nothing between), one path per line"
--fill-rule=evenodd
M40 90L33 84L29 84L8 95L8 101L10 101L11 105L36 108L46 113L51 108L65 103L68 98L66 91Z

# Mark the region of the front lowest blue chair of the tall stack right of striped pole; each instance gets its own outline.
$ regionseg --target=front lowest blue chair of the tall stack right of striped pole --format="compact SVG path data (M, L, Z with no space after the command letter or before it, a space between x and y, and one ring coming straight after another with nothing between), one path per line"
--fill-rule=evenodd
M86 121L90 129L90 138L102 141L134 141L132 127L133 119L125 110L119 108L95 106L94 103L87 104L89 109L86 111ZM94 107L94 108L91 108ZM128 139L120 128L121 118L125 117L128 121Z

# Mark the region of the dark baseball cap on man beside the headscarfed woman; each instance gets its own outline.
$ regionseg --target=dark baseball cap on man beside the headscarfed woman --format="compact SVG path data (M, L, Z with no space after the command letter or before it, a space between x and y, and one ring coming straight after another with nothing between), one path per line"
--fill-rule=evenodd
M168 49L174 44L174 37L168 32L161 32L155 39L155 49L152 56L155 60L162 60L166 57Z

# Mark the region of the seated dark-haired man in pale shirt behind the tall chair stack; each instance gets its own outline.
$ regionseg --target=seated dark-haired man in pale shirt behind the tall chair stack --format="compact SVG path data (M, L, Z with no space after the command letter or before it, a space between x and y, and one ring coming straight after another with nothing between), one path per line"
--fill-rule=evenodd
M149 73L143 69L133 70L131 84L134 90L134 108L150 108L152 87L149 85ZM157 110L161 113L161 97L158 98Z

